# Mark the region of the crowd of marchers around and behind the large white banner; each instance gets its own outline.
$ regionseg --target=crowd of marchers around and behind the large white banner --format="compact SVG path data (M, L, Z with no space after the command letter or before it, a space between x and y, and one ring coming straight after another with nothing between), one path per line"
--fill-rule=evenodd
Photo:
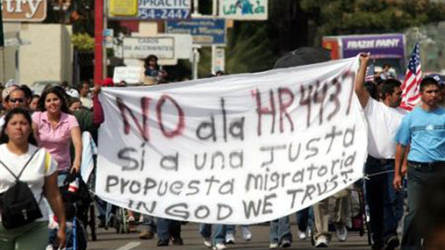
M443 249L441 235L445 226L445 208L440 195L444 194L444 179L430 182L430 178L445 169L445 83L438 75L423 78L419 88L421 103L412 112L399 108L401 82L385 74L365 82L369 55L360 56L360 67L355 92L369 126L369 156L364 165L367 176L362 189L369 213L371 249ZM165 83L166 72L157 65L156 56L145 62L147 77ZM161 74L161 75L159 75ZM222 75L223 72L218 72ZM78 174L82 164L81 133L87 131L97 142L97 130L104 122L98 94L102 87L114 85L111 78L90 88L83 82L78 88L65 85L48 86L42 93L33 93L26 85L7 85L3 89L0 117L0 201L17 180L28 184L41 216L25 224L6 228L0 224L0 249L45 249L49 242L49 208L56 217L57 244L65 246L66 223L59 189L67 176ZM100 147L100 145L99 145ZM407 215L404 216L403 178L407 176ZM442 181L440 181L442 180ZM427 185L429 184L429 185ZM424 190L434 197L422 195ZM45 201L42 201L42 197ZM437 198L439 197L439 198ZM330 200L334 200L334 215L330 219ZM313 238L315 247L328 247L332 235L329 224L334 224L337 239L348 239L351 190L346 188L332 197L315 203L296 214L298 238ZM99 226L113 221L115 209L96 199ZM429 205L428 205L429 204ZM109 206L108 206L109 207ZM6 210L0 204L2 219ZM442 209L442 210L440 210ZM429 211L426 213L426 211ZM128 211L128 221L136 223L136 214ZM431 218L434 219L431 219ZM108 221L107 219L108 218ZM402 238L398 225L404 220ZM151 240L157 235L159 247L184 244L181 222L172 219L140 215L139 238ZM427 223L428 222L428 223ZM270 249L291 247L293 238L289 216L269 223ZM201 224L199 233L204 245L226 249L235 243L233 225ZM240 225L246 241L254 235L250 227ZM55 231L54 231L55 230ZM213 231L213 232L212 232ZM443 241L443 240L442 240ZM54 244L50 244L53 247ZM32 246L32 247L29 247Z

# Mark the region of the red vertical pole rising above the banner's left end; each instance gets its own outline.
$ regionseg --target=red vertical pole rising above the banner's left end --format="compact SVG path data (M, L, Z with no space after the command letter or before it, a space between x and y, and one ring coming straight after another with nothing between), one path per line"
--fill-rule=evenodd
M104 0L95 0L95 78L94 83L100 83L104 78L103 61L103 33L104 33Z

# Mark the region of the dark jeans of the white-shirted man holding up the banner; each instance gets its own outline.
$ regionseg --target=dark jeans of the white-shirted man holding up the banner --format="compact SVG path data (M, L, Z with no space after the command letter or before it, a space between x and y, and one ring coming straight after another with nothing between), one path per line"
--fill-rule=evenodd
M369 156L365 174L371 175L365 181L365 199L371 217L371 238L375 246L383 247L385 241L397 236L398 222L403 216L403 193L396 192L392 185L394 160L380 160Z

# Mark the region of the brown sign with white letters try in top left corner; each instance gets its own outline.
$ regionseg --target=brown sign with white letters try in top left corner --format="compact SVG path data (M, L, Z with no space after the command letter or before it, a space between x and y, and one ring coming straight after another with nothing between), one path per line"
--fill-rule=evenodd
M42 22L47 18L47 0L2 0L3 22Z

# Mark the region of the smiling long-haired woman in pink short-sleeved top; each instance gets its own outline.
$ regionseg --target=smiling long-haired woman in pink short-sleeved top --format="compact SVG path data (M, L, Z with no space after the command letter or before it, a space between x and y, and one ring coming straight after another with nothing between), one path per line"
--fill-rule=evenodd
M42 93L33 113L34 134L39 146L47 149L58 163L59 174L79 172L82 155L81 130L76 117L70 115L65 97L58 87ZM70 143L74 144L74 161L71 166ZM63 181L63 180L62 180Z

